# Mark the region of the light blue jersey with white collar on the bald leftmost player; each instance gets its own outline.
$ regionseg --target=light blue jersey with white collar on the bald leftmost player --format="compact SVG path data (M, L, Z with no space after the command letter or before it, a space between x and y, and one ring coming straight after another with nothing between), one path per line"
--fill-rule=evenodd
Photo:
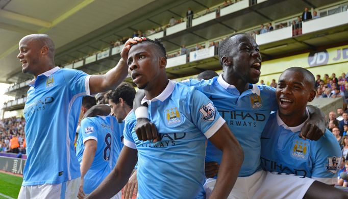
M80 177L73 140L89 77L55 67L30 83L24 107L27 163L23 186L58 184Z

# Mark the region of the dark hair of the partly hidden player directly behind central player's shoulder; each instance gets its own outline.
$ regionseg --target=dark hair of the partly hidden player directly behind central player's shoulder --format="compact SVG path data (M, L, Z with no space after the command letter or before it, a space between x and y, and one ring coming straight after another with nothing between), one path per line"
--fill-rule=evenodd
M106 97L108 101L111 99L111 101L115 104L118 104L119 98L122 98L128 106L133 108L135 93L136 91L131 84L123 82L115 90L108 92Z

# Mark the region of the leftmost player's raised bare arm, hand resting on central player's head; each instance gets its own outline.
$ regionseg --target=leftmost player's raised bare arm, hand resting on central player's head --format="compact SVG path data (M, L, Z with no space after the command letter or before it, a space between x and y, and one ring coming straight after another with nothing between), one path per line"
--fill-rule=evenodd
M121 51L121 59L117 65L106 74L93 75L89 79L89 89L91 94L115 89L126 77L128 73L128 52L131 44L142 41L146 38L134 37L127 40Z

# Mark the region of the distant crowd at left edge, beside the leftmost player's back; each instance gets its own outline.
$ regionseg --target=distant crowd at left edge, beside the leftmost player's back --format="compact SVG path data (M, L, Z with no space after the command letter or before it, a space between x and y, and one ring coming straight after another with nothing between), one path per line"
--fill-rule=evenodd
M23 117L10 117L0 120L0 152L26 154Z

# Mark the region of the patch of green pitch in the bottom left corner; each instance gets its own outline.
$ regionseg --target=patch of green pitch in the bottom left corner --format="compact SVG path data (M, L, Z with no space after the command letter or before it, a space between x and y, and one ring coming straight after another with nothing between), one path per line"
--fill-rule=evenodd
M0 193L17 198L23 178L0 172ZM0 195L0 198L6 198Z

